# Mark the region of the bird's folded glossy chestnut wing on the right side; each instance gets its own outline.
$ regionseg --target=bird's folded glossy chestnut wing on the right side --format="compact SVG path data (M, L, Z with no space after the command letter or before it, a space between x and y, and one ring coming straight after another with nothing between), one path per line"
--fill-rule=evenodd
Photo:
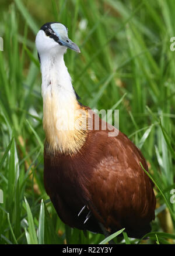
M93 137L98 142L93 154L100 155L88 187L93 214L106 227L149 223L155 217L155 195L140 165L148 170L142 153L121 132L109 137L97 131Z

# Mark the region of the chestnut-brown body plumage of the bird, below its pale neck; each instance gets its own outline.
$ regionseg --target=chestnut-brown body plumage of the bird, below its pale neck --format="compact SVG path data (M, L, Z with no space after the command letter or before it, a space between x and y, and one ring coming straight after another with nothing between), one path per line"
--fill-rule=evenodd
M101 233L100 222L110 233L125 227L130 237L141 238L155 218L153 185L139 162L147 171L148 166L126 135L110 137L108 132L101 125L99 131L89 131L75 155L45 151L46 192L71 227ZM89 211L91 217L83 224Z

